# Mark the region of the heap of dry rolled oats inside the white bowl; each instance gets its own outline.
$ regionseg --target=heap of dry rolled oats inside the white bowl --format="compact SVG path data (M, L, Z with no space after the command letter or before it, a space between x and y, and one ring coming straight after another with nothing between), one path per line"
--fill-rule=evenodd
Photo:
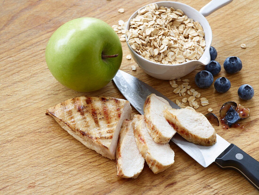
M188 18L180 9L158 7L155 3L138 10L126 35L134 51L160 64L198 60L206 45L199 22Z

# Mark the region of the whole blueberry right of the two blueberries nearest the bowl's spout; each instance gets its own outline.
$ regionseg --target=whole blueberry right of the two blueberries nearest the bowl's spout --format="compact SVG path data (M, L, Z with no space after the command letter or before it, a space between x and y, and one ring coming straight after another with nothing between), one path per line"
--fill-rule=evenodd
M242 62L238 57L228 57L225 59L224 69L231 74L239 72L242 69Z

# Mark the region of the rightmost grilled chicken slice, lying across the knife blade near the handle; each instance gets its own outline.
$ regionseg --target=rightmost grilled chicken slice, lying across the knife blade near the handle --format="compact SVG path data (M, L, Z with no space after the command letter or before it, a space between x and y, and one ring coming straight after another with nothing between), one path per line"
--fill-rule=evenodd
M216 143L216 132L208 119L192 107L166 109L164 115L184 139L194 144L212 146Z

